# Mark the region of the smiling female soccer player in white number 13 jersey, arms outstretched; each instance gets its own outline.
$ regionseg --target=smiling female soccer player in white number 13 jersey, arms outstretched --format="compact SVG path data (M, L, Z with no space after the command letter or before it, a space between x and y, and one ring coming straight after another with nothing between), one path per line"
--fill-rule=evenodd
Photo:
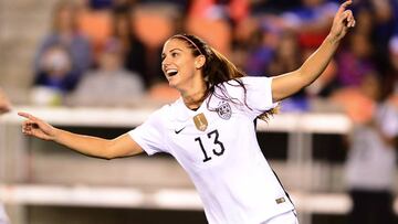
M294 224L295 211L263 157L253 120L310 85L325 70L342 38L355 25L352 1L338 9L329 34L304 64L287 74L244 77L199 38L166 41L163 71L181 97L115 139L52 127L27 113L22 132L53 140L92 157L113 159L146 152L172 154L193 181L211 224Z

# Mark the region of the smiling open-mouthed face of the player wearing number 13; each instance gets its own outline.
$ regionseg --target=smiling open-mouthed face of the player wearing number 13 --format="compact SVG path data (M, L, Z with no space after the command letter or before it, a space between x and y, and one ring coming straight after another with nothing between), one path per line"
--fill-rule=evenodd
M201 71L196 66L198 56L192 55L192 50L185 41L168 40L164 45L161 58L161 70L171 87L187 90L197 82L202 82Z

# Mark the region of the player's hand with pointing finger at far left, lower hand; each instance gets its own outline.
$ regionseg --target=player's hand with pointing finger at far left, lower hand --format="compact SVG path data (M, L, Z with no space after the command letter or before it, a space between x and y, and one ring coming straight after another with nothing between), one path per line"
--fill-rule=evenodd
M53 126L28 113L20 111L18 115L27 118L27 120L22 122L22 132L24 135L41 138L43 140L55 139L56 128Z

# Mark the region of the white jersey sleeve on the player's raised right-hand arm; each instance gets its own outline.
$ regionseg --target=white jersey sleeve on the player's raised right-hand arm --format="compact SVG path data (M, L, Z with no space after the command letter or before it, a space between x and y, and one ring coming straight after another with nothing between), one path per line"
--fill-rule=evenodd
M277 106L272 100L272 77L243 77L247 88L247 104L256 117Z

